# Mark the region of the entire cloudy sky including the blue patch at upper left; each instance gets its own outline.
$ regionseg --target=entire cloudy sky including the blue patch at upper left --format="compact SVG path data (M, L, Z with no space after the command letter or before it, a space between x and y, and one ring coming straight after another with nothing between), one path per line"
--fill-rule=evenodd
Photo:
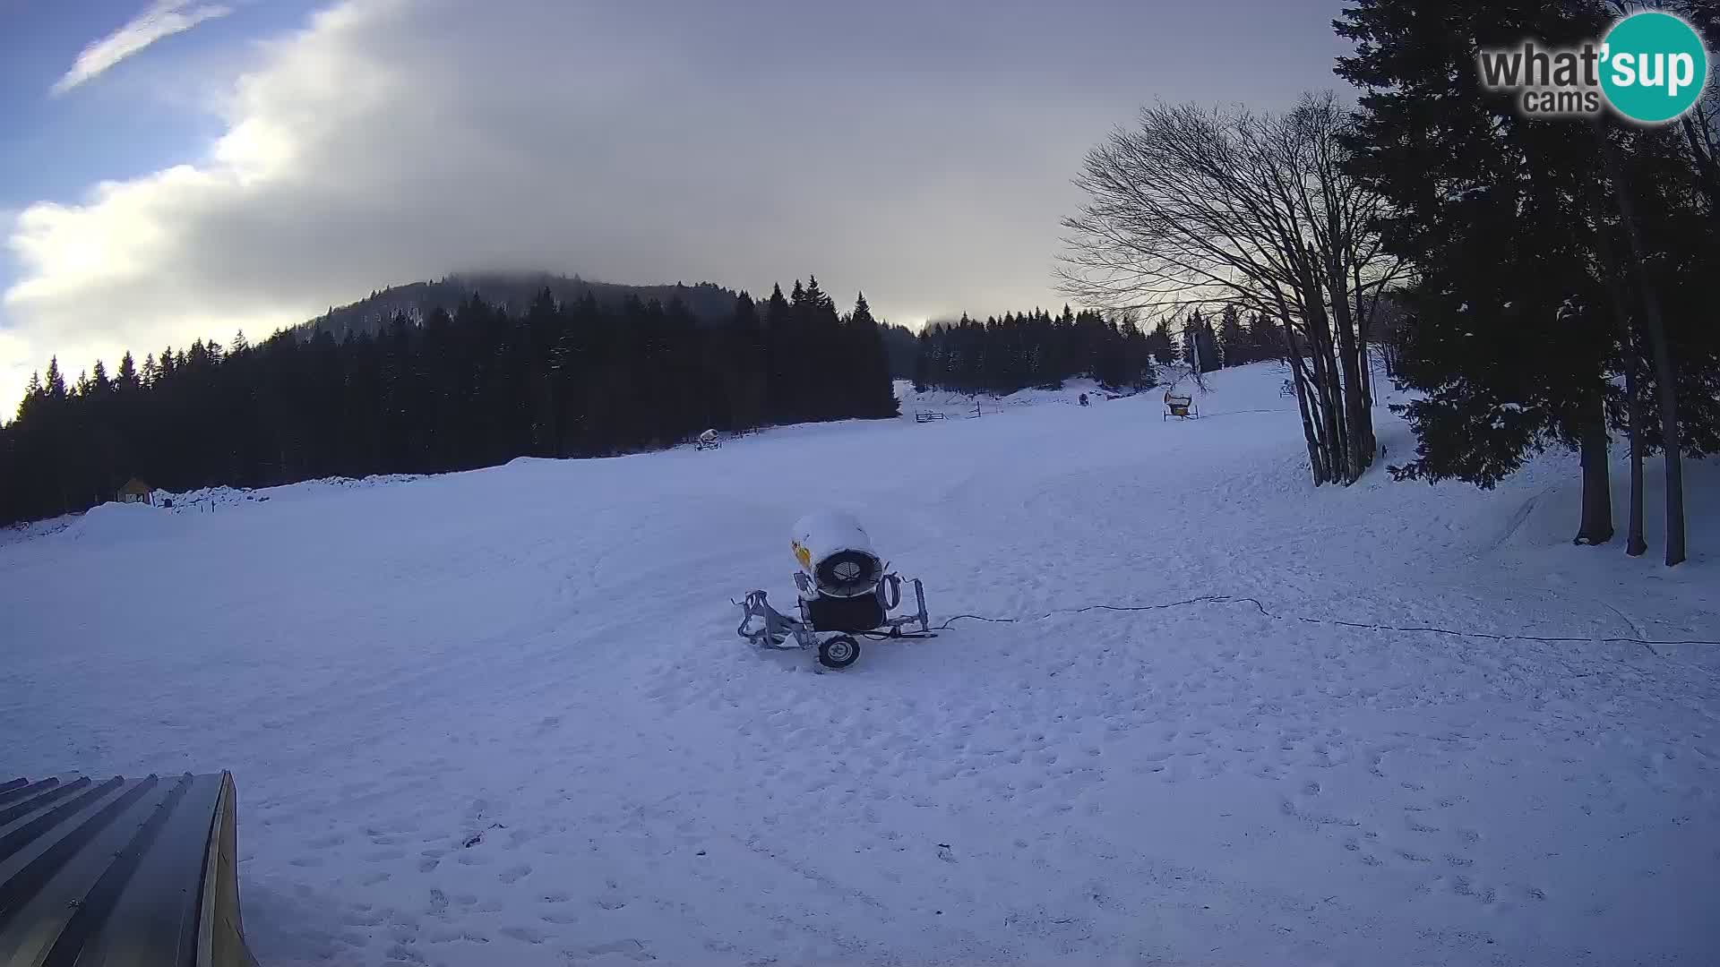
M461 270L1056 305L1085 148L1336 86L1340 7L0 0L0 413Z

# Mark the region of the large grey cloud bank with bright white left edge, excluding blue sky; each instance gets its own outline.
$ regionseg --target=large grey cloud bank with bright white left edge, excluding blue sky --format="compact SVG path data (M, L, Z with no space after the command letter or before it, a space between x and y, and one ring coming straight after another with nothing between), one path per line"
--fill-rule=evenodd
M1075 43L1078 17L1022 3L992 34L998 3L839 24L789 0L315 14L229 84L200 160L15 217L0 406L53 353L112 370L475 268L755 293L810 272L900 320L1047 303L1082 151L1178 91L1128 76L1140 31ZM1189 77L1182 96L1225 95Z

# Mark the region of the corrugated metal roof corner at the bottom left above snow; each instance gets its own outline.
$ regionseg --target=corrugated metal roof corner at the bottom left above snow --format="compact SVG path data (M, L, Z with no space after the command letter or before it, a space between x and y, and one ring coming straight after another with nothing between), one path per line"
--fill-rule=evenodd
M232 838L227 773L0 781L0 967L255 964Z

